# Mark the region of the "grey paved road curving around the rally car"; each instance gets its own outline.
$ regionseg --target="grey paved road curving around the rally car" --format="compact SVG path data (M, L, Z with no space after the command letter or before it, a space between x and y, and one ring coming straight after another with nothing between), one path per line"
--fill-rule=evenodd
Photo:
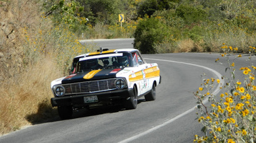
M133 40L95 42L103 47L132 48ZM220 54L209 53L143 54L143 57L148 63L157 62L161 70L162 82L157 87L155 101L140 99L134 110L120 107L81 110L71 120L55 117L51 122L1 136L0 142L193 142L195 134L202 134L193 92L200 87L203 73L215 79L228 77L226 64L215 63ZM237 66L242 66L244 60L238 60Z

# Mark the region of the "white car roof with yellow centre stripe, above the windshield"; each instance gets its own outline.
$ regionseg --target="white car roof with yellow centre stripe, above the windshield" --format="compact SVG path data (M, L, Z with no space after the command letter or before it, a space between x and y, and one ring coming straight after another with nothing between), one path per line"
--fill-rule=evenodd
M134 48L120 48L120 49L113 49L113 50L103 50L103 51L97 51L97 52L89 52L86 54L81 54L79 56L76 56L75 58L82 57L82 56L93 56L93 55L98 55L98 54L107 54L107 53L113 53L113 52L134 52L138 51L137 49Z

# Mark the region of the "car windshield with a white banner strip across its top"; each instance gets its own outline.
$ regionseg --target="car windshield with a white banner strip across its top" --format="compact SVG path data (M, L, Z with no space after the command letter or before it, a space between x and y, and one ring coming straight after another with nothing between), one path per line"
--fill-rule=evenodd
M132 66L130 53L101 54L97 56L86 56L74 62L72 73L85 70L97 70L101 68L124 68Z

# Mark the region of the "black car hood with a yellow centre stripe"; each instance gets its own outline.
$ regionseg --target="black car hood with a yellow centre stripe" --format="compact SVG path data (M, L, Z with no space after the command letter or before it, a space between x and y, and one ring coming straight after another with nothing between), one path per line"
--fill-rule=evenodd
M119 73L122 69L123 68L103 68L99 70L84 71L65 77L62 79L61 84L115 78L116 74Z

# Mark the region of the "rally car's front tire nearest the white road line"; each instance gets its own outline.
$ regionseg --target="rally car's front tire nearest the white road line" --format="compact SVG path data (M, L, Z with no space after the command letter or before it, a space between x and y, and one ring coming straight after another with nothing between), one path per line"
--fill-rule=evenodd
M130 95L130 99L126 100L124 102L124 107L126 109L136 109L137 104L138 104L138 99L137 99L137 89L136 87L133 87L133 93Z

